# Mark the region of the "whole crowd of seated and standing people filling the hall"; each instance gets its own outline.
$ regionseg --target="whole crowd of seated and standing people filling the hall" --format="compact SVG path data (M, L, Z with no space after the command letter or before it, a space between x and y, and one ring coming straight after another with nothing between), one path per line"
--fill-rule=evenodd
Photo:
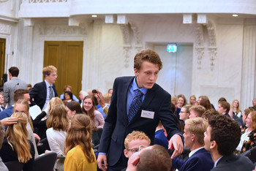
M118 77L104 96L54 83L55 66L33 87L9 69L0 93L0 168L8 161L34 169L42 153L57 153L55 170L254 170L243 155L256 146L256 99L241 110L237 99L170 96L157 85L162 61L154 50L134 59L135 77ZM41 113L32 118L29 108ZM39 151L39 142L49 149Z

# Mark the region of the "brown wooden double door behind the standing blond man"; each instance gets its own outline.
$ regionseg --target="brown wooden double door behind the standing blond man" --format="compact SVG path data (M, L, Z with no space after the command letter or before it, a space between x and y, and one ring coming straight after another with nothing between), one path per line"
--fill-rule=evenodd
M58 69L58 94L63 94L64 86L70 85L78 97L82 87L83 42L45 41L44 66L48 65Z

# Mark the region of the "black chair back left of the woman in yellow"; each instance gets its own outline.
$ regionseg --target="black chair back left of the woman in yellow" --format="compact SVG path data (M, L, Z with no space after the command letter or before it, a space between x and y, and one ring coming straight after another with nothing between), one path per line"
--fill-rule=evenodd
M34 170L37 171L53 171L55 161L57 159L57 153L50 152L45 153L42 156L34 159Z

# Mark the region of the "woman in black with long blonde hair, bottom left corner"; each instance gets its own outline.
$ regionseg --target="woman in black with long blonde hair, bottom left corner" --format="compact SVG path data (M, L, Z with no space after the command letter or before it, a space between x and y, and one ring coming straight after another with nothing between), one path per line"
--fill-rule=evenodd
M4 162L19 161L24 163L23 171L34 170L34 146L28 140L26 124L28 117L25 113L13 113L11 117L18 119L18 123L8 126L6 138L2 145L0 156Z

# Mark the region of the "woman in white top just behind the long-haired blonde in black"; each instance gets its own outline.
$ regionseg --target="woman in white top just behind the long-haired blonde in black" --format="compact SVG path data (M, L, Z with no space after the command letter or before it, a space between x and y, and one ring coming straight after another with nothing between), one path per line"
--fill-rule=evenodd
M35 138L37 138L40 141L40 137L37 134L34 134L33 132L33 123L29 115L29 103L26 102L26 100L24 99L19 99L17 102L15 102L15 105L13 107L13 113L25 113L28 117L28 123L26 124L26 129L28 131L28 140L31 140L31 142L33 143L35 152L34 157L37 158L38 152Z

